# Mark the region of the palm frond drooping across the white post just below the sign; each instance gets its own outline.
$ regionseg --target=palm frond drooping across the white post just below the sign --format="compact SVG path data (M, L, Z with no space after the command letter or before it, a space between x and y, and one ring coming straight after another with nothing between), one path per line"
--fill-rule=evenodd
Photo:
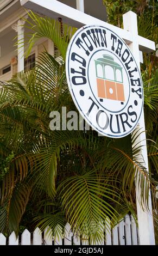
M148 208L148 194L150 190L150 177L147 172L147 169L144 167L144 158L141 153L141 149L144 147L144 143L139 142L139 137L141 133L140 129L136 130L132 133L131 143L132 143L132 154L129 155L125 153L122 149L116 149L119 154L119 162L116 167L116 172L120 172L120 170L124 170L122 185L123 192L126 193L129 191L129 194L132 194L132 190L135 188L135 184L140 187L141 193L141 201L140 204L142 208ZM138 142L137 142L138 140ZM121 164L121 166L120 166Z

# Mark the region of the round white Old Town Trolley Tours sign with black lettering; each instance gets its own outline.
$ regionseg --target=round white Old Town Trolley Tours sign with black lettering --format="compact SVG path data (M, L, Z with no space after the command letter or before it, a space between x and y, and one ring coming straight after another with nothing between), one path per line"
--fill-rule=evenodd
M80 28L66 54L66 76L75 106L102 135L120 138L134 130L143 108L143 87L134 57L117 34Z

